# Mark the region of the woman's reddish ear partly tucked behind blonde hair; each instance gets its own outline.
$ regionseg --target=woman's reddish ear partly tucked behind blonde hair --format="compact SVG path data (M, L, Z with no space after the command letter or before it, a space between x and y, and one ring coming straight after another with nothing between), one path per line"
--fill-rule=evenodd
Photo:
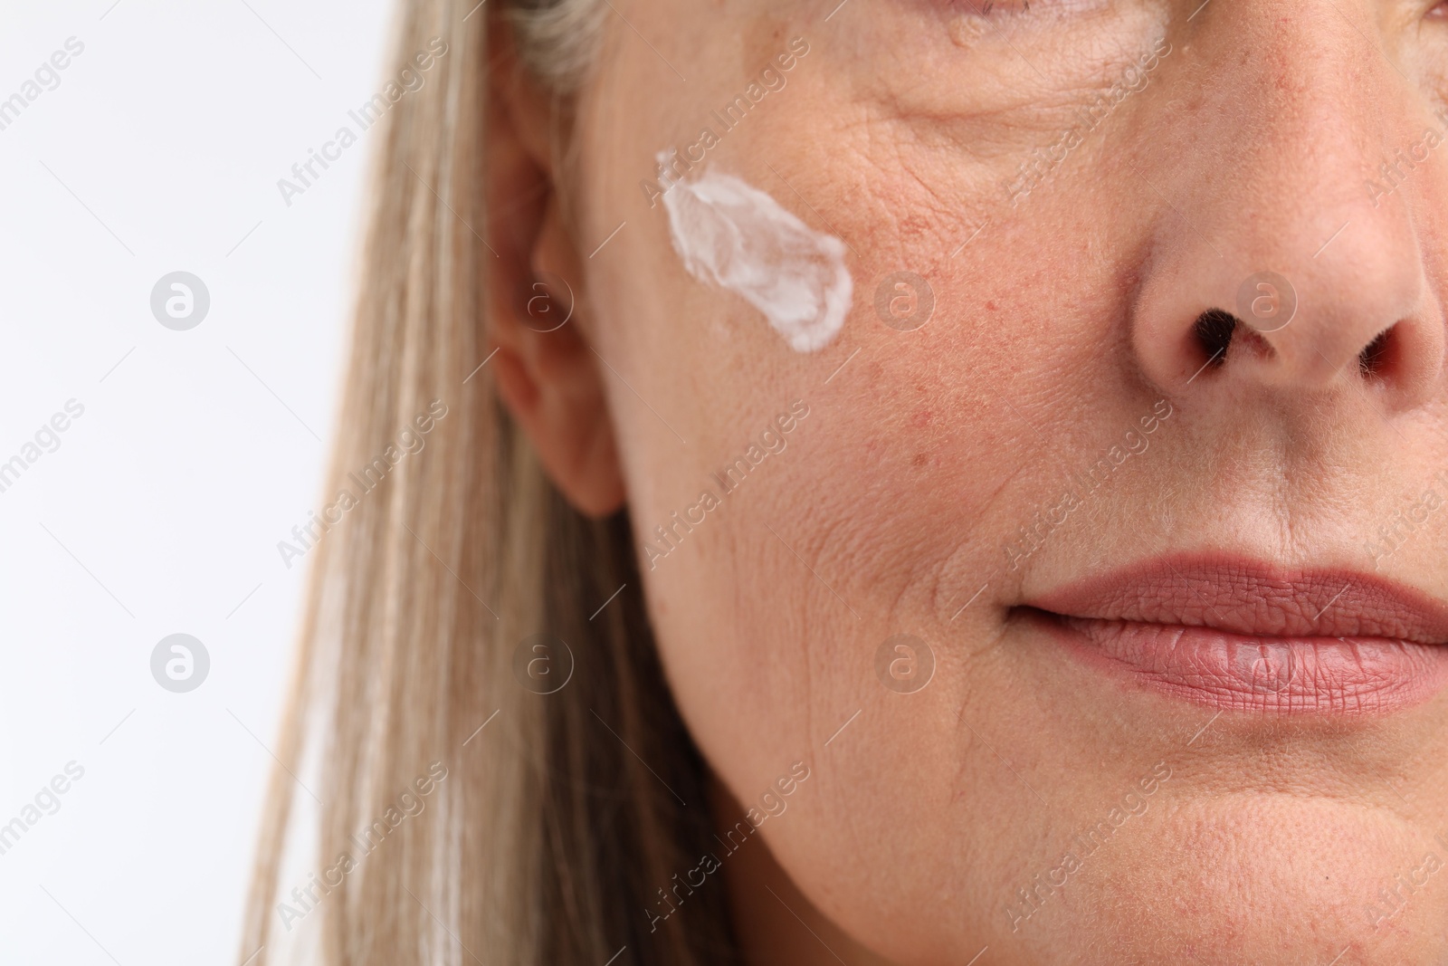
M489 23L485 169L488 339L494 381L573 507L604 517L623 505L614 427L589 346L584 268L559 204L553 133L559 104L517 61L507 25ZM566 320L566 322L565 322Z

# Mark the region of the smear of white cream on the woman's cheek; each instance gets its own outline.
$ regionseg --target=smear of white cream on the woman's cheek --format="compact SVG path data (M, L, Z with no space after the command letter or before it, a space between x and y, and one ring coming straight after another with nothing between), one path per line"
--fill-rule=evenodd
M796 352L834 340L854 288L844 242L717 171L669 185L663 207L673 251L691 275L743 295Z

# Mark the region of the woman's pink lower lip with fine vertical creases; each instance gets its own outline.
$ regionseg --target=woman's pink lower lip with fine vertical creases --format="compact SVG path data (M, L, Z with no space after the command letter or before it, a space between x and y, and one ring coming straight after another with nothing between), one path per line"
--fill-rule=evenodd
M1196 704L1263 714L1381 714L1448 685L1448 646L1248 637L1211 627L1050 617L1079 656Z

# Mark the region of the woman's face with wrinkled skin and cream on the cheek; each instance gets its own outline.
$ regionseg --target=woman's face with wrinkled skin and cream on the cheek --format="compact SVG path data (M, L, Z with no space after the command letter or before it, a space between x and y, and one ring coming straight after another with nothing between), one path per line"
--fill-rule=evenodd
M1445 962L1448 19L605 17L649 613L741 808L809 768L809 904L901 963Z

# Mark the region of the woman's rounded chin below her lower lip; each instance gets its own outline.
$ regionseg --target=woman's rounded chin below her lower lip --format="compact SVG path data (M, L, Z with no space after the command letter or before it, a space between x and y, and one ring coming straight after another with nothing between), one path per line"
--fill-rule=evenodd
M1448 849L1422 828L1290 788L1166 799L1132 821L1022 924L1019 956L1006 940L992 962L1448 963Z

